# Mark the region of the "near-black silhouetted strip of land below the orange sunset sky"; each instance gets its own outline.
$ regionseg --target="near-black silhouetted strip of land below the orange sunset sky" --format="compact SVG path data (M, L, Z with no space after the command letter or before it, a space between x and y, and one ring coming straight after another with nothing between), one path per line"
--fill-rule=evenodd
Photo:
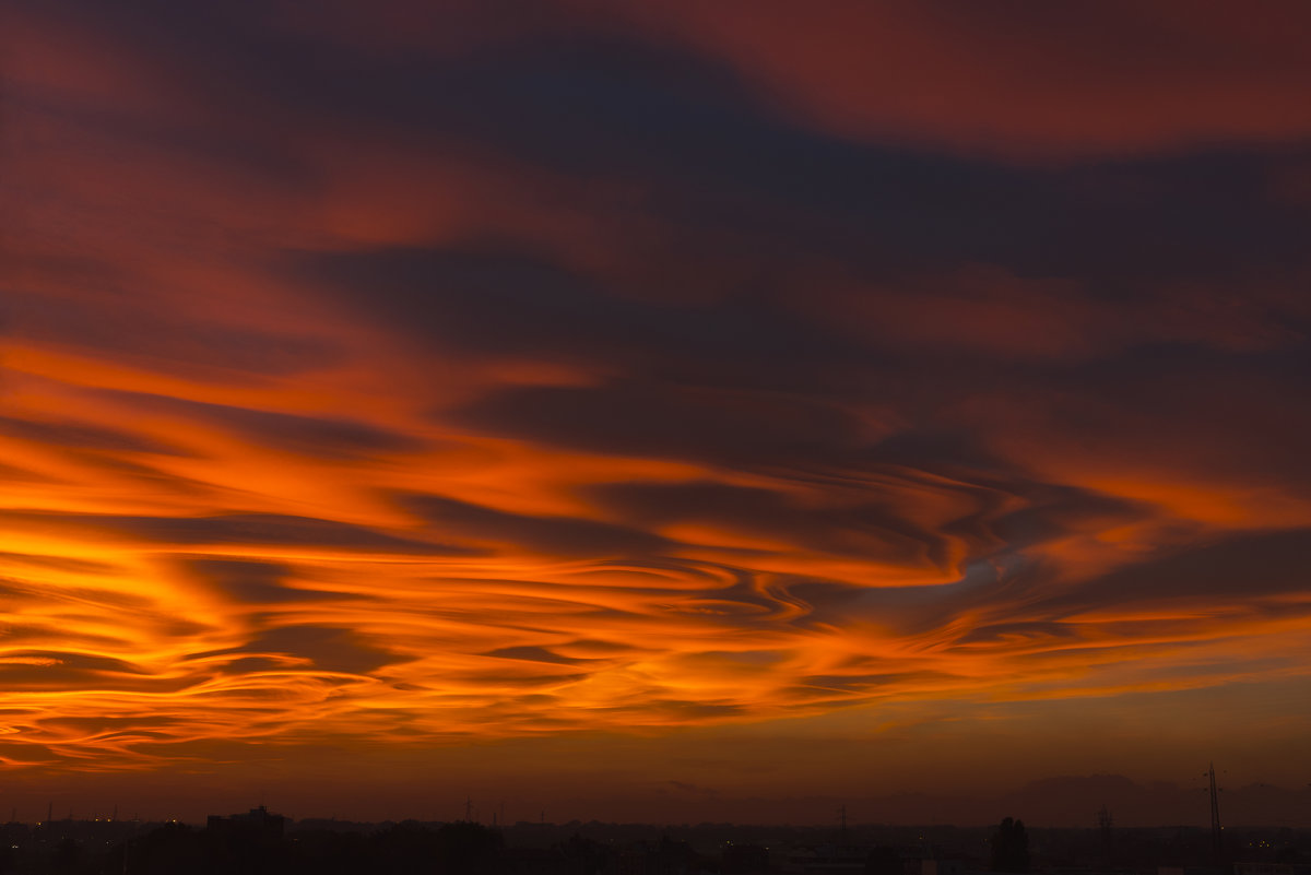
M1019 827L1019 829L1016 829ZM0 875L1311 875L1311 829L181 823L0 827Z

